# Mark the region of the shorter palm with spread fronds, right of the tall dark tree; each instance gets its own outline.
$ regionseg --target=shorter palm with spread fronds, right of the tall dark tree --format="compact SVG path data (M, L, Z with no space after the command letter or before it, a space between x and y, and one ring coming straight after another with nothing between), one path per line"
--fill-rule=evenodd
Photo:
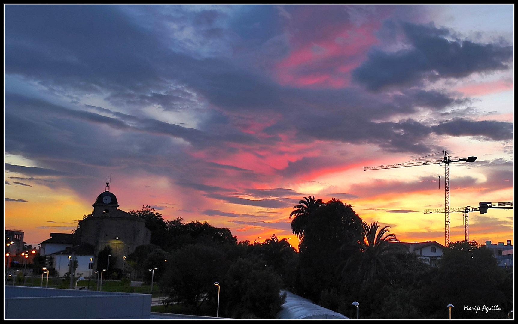
M345 266L342 268L342 276L348 273L356 283L370 281L378 277L388 279L386 267L396 262L397 252L401 252L396 235L389 231L390 226L381 227L378 222L367 225L362 223L364 238L362 241L352 245L342 246L342 250L353 250L354 253L349 257Z

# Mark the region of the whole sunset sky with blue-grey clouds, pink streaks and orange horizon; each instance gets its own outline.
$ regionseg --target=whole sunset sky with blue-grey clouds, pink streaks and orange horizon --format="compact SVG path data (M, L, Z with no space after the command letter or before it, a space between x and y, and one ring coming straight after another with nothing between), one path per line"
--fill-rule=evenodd
M423 214L444 208L443 166L363 167L477 156L451 165L451 207L513 201L513 12L5 6L5 227L69 233L111 174L119 209L240 241L295 242L290 212L314 195L444 244L444 215ZM471 213L470 239L514 244L513 223Z

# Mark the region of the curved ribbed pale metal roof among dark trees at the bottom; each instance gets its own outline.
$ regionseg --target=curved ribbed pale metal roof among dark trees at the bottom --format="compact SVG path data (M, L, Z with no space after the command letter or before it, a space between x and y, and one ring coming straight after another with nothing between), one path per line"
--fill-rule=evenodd
M281 293L286 293L286 300L277 313L278 319L350 319L289 291L282 290Z

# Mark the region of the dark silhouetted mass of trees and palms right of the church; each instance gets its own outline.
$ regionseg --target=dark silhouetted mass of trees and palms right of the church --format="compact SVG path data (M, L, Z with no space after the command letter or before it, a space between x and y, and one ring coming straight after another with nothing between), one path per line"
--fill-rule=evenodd
M157 268L154 283L168 296L164 310L214 316L214 282L221 284L221 317L275 318L284 301L281 289L350 318L356 317L353 301L361 318L372 319L444 319L448 304L455 306L452 318L507 318L513 309L512 271L497 267L490 250L456 242L438 267L430 267L398 244L389 227L363 223L339 200L305 197L294 207L298 253L276 235L264 243L238 243L228 228L165 221L149 206L130 213L146 220L152 236L150 245L126 259L126 274L149 283L148 269ZM474 312L464 305L500 310Z

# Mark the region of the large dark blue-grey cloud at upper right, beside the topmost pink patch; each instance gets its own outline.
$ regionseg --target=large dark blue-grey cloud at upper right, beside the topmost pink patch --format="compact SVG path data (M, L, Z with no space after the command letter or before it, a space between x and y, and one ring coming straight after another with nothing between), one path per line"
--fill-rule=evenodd
M367 61L353 71L354 81L377 91L424 79L463 78L475 72L505 70L512 60L512 45L452 40L454 35L449 30L433 23L403 23L402 30L412 48L392 53L373 49Z

